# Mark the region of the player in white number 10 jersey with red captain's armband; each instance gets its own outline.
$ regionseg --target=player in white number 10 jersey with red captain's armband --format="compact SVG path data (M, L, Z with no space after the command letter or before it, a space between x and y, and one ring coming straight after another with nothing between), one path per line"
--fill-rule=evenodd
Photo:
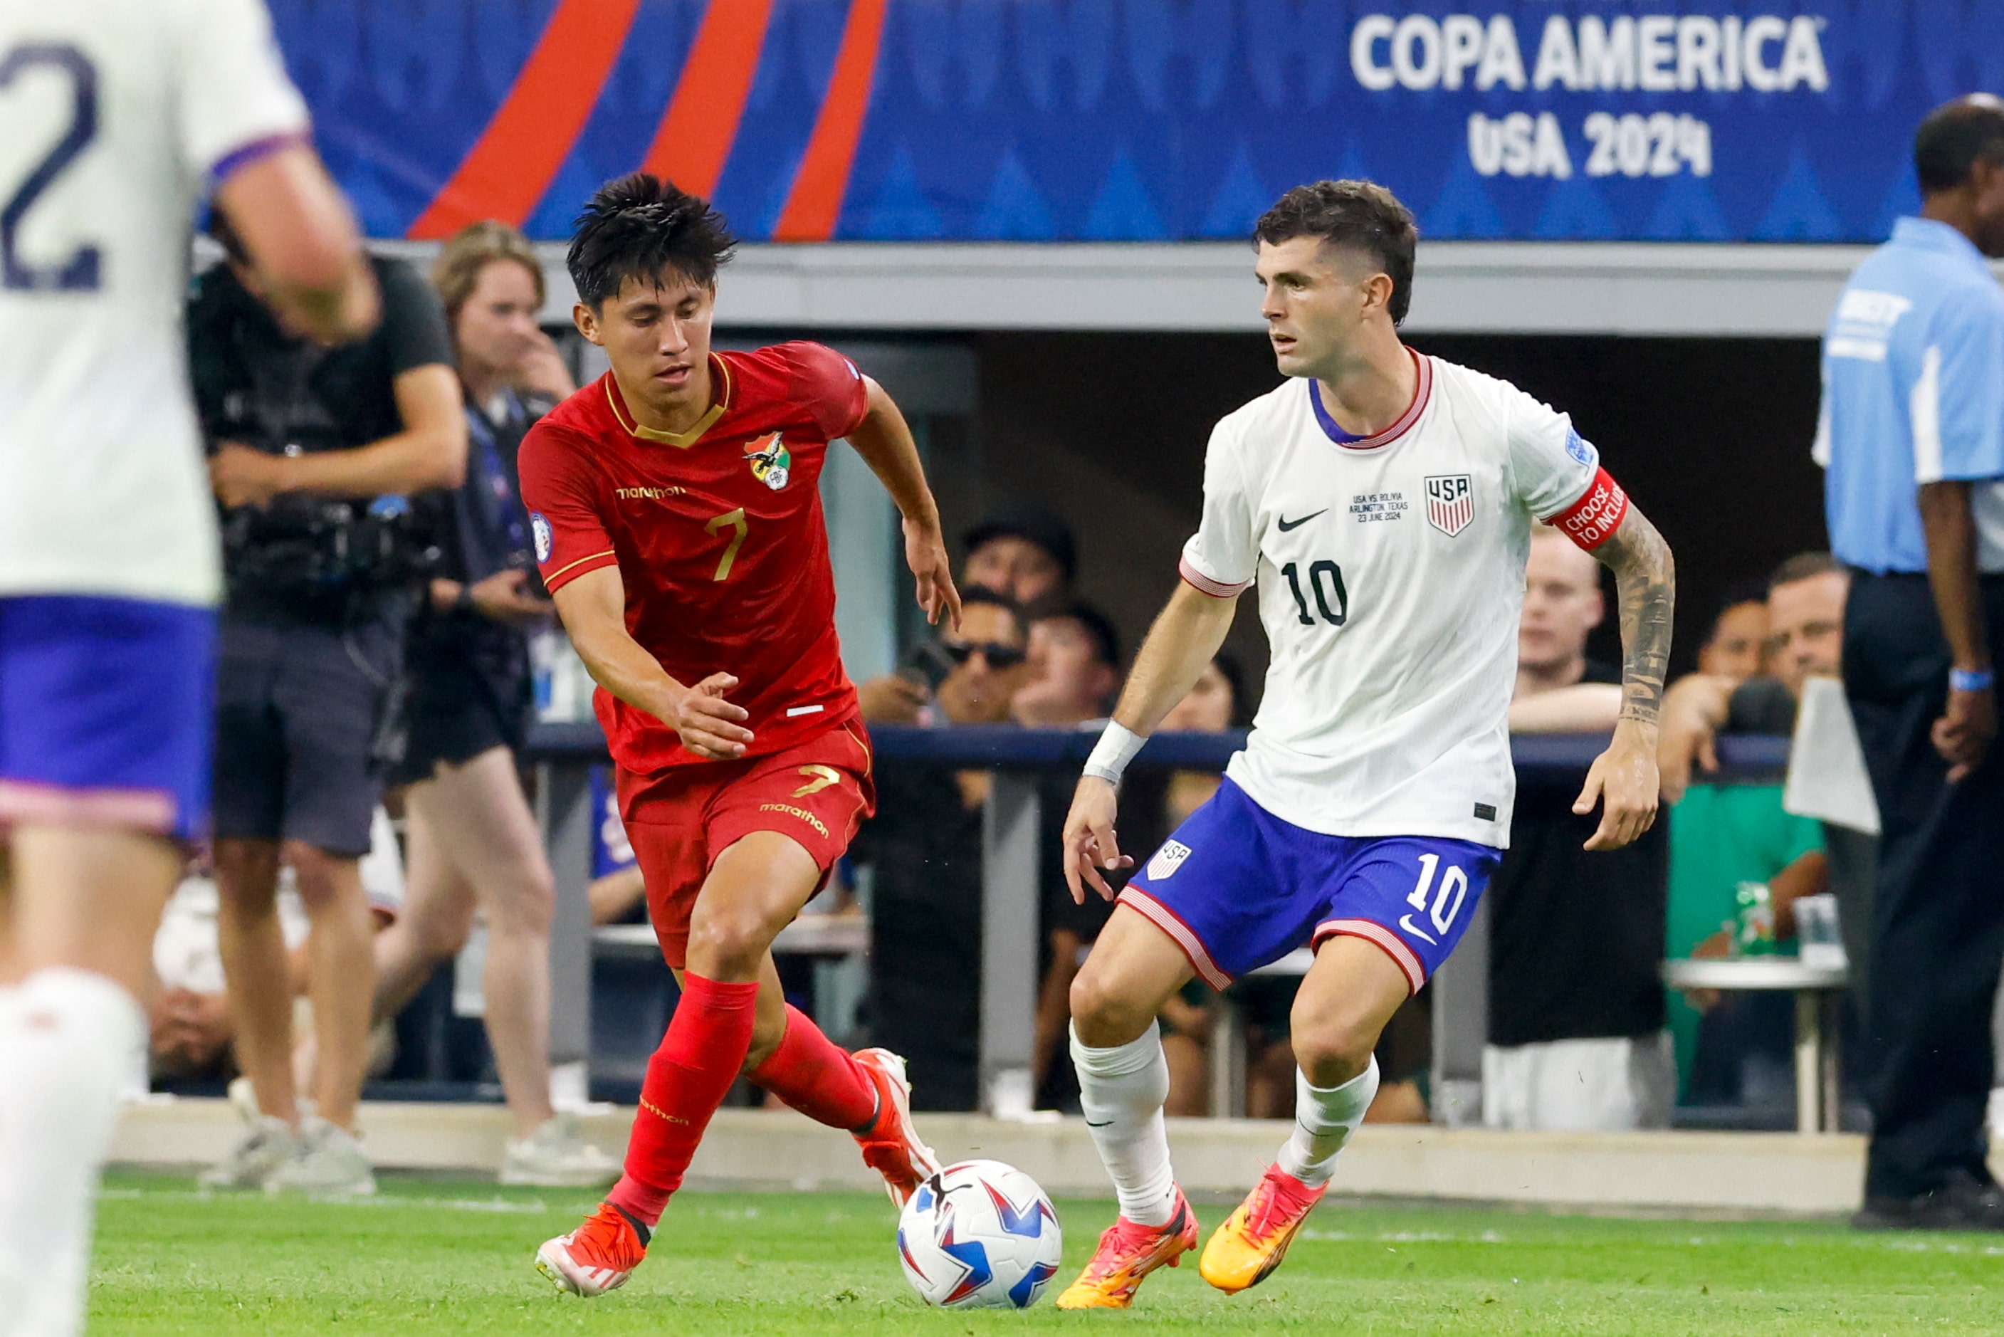
M1126 868L1114 790L1259 583L1273 645L1244 752L1118 896L1072 984L1080 1104L1120 1219L1058 1299L1124 1309L1196 1245L1162 1131L1162 1002L1311 944L1293 1010L1295 1133L1204 1247L1222 1291L1271 1273L1377 1092L1379 1032L1453 950L1509 838L1505 718L1531 523L1613 567L1623 708L1575 804L1591 850L1655 820L1671 557L1571 421L1399 341L1417 233L1389 190L1297 186L1259 220L1279 389L1226 415L1204 459L1182 583L1134 659L1064 824L1074 896Z

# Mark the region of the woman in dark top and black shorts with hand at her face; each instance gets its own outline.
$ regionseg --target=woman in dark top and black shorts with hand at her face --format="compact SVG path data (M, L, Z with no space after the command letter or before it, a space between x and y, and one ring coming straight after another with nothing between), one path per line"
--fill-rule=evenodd
M375 1016L411 1002L439 962L467 944L479 910L487 920L487 1040L515 1125L501 1183L605 1185L619 1165L549 1102L555 878L515 760L531 708L527 631L555 611L533 569L515 451L573 387L535 323L543 267L521 233L469 225L439 251L431 281L445 303L471 451L429 597L411 627L409 744L397 768L409 786L411 900L377 938Z

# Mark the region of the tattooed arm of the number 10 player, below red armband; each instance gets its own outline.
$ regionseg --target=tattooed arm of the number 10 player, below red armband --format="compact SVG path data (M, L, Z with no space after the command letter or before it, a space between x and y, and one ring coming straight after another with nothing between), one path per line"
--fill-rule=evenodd
M1669 670L1669 625L1677 599L1677 565L1669 543L1635 505L1613 537L1593 553L1615 573L1621 605L1621 716L1613 742L1593 760L1587 784L1573 800L1585 816L1601 802L1601 824L1589 850L1619 850L1655 826L1661 794L1657 720Z

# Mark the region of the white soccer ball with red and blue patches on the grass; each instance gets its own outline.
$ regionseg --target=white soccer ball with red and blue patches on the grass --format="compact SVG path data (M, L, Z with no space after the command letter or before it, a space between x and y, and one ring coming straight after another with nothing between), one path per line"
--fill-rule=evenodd
M1000 1161L946 1167L898 1217L904 1275L942 1309L1028 1309L1058 1273L1062 1249L1050 1199Z

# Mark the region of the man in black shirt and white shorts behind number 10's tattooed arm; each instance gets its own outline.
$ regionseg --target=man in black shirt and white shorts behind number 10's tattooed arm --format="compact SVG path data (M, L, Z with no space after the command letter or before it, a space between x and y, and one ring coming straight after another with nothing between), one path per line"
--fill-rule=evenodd
M1609 728L1621 674L1587 659L1587 633L1605 613L1599 563L1539 527L1525 579L1511 728L1525 730L1523 718L1553 730ZM1511 844L1491 882L1483 1123L1663 1127L1675 1094L1657 974L1663 826L1621 850L1587 852L1597 822L1573 812L1575 792L1517 790Z

